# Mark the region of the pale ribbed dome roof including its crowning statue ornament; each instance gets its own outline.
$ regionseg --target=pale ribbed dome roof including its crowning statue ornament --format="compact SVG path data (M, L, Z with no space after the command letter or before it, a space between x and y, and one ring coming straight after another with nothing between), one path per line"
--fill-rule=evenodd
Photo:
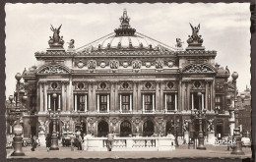
M127 16L127 11L124 10L123 16L120 18L120 27L77 50L82 52L99 50L176 50L149 36L136 32L135 28L130 27L129 22L130 18Z

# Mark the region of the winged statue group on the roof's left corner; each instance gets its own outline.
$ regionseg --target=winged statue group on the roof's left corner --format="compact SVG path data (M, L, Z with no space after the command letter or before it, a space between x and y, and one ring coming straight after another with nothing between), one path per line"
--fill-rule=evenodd
M58 28L54 28L54 27L52 27L52 25L50 25L50 26L51 26L50 29L53 31L53 35L52 35L52 37L50 36L50 39L48 41L50 48L52 48L52 47L53 48L54 47L63 48L63 44L64 44L63 36L61 36L61 37L59 36L60 28L62 25Z

